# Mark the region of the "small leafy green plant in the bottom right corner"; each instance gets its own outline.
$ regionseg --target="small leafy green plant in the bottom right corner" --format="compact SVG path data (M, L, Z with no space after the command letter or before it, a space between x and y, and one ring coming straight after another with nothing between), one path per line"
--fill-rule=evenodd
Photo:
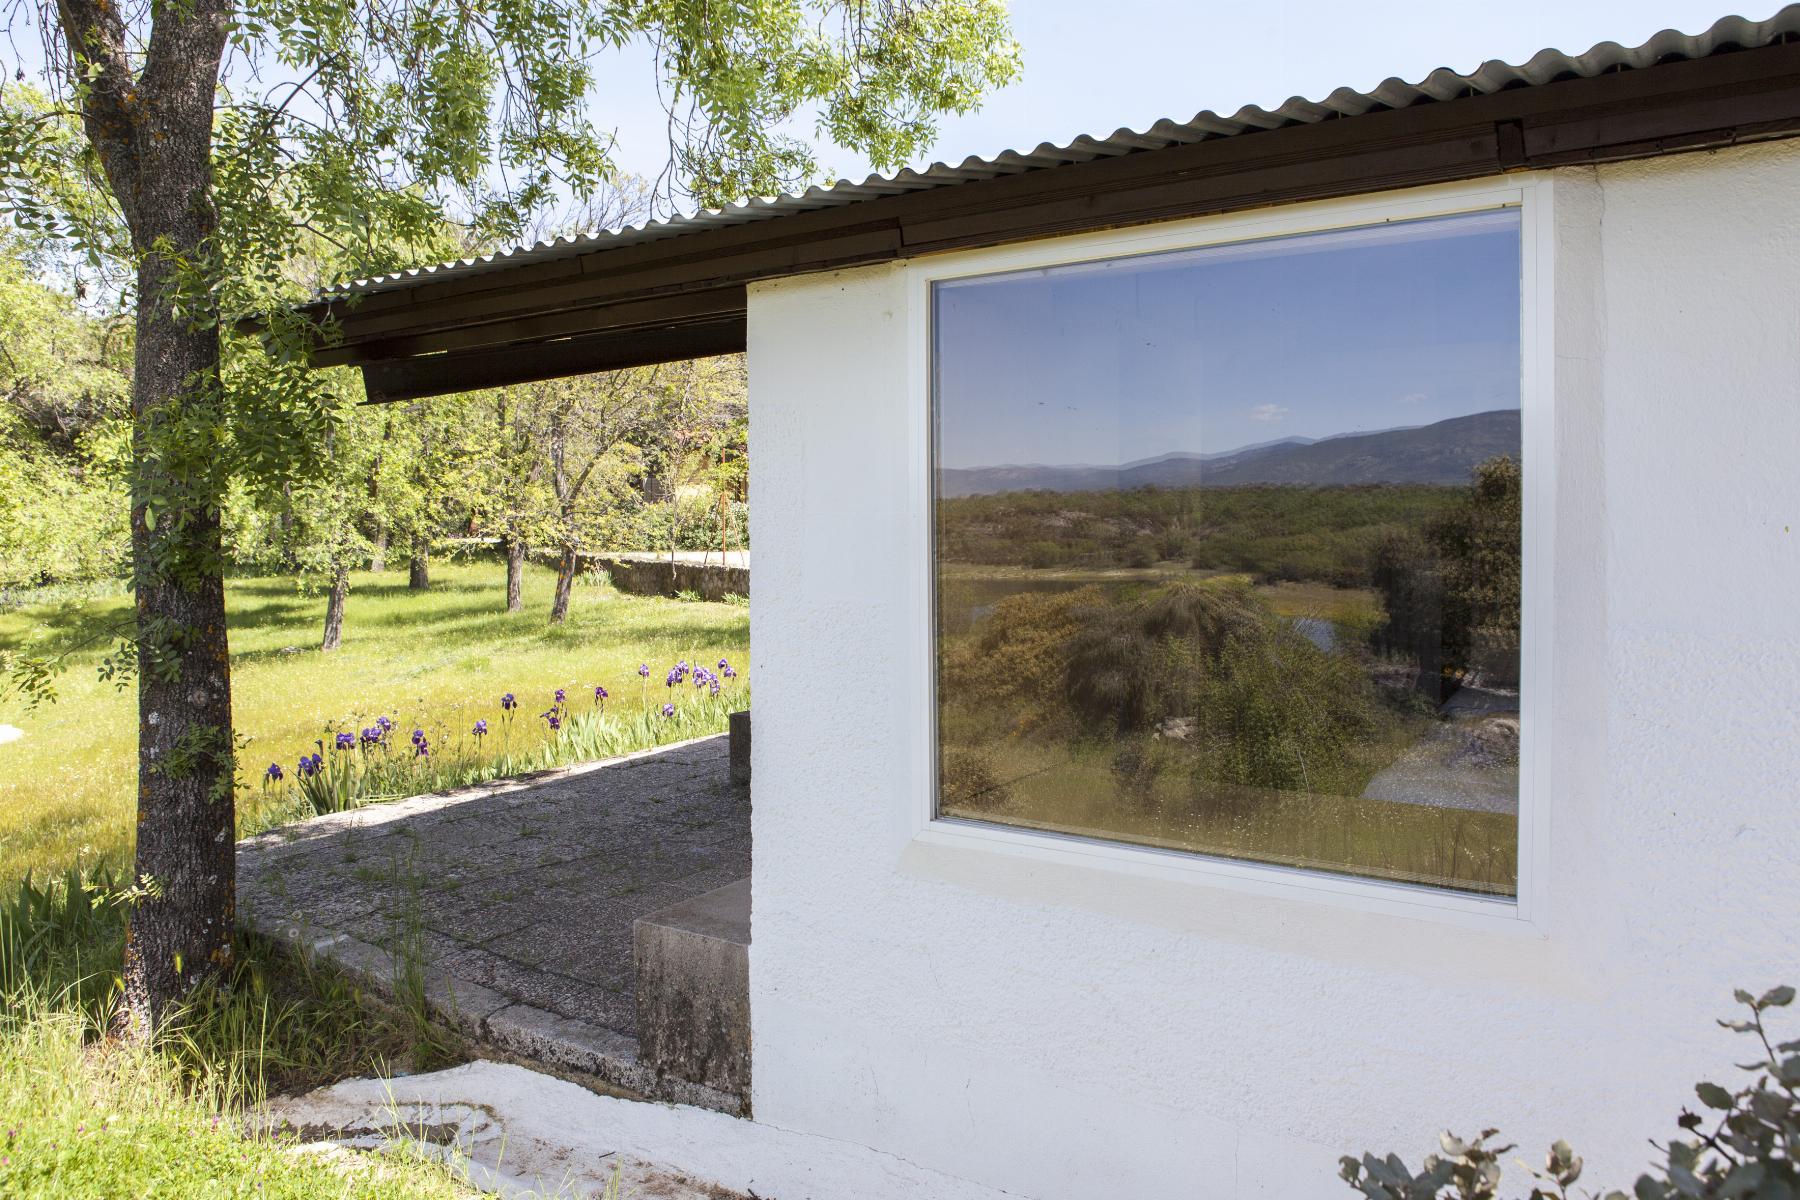
M1663 1160L1638 1177L1629 1193L1573 1193L1580 1180L1580 1155L1568 1142L1555 1142L1526 1200L1570 1200L1575 1195L1600 1200L1795 1200L1800 1196L1800 1040L1771 1042L1764 1013L1795 1000L1789 986L1760 997L1739 990L1737 1002L1750 1009L1741 1020L1721 1020L1733 1033L1755 1036L1760 1058L1744 1063L1751 1081L1735 1092L1721 1083L1697 1083L1694 1094L1706 1114L1683 1112L1676 1124L1687 1137L1660 1146ZM1708 1130L1708 1124L1712 1126ZM1440 1137L1442 1153L1427 1155L1415 1173L1399 1155L1345 1157L1339 1175L1368 1200L1498 1200L1499 1159L1512 1146L1492 1146L1498 1130L1463 1141ZM1654 1142L1652 1142L1654 1144Z

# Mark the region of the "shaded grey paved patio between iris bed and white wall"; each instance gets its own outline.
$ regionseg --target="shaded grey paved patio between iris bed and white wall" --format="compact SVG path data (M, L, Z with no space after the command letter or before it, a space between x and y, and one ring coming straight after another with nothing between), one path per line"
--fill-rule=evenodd
M376 984L425 973L439 1013L524 1058L644 1096L738 1097L637 1063L632 921L751 873L725 738L317 817L238 851L259 932Z

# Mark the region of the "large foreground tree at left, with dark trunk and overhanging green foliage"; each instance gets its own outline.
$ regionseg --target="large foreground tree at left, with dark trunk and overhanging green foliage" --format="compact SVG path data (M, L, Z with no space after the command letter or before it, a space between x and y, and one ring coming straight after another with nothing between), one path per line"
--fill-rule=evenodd
M70 261L110 270L137 317L146 901L126 1007L151 1029L232 954L221 513L236 488L292 493L340 462L326 437L338 399L304 362L319 331L281 315L320 257L387 272L446 257L455 225L488 245L565 194L592 196L614 175L589 115L608 49L655 54L666 194L720 203L812 178L812 151L781 133L806 113L877 166L900 164L938 113L1008 81L1017 47L999 0L43 0L23 13L52 95L5 88L0 203ZM254 336L238 326L252 313L266 315Z

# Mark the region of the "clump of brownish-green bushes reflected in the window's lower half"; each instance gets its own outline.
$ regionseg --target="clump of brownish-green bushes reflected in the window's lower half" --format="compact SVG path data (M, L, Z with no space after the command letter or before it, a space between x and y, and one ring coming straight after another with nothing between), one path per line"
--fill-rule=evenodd
M1321 649L1242 583L1017 594L943 644L947 756L1093 745L1139 810L1170 779L1354 795L1370 747L1417 721L1382 703L1364 657ZM970 793L949 772L945 797Z

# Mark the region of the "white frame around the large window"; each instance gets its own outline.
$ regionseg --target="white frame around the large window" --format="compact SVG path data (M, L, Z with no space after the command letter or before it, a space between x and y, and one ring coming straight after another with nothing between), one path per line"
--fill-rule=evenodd
M1334 907L1422 916L1465 927L1539 937L1544 932L1544 867L1550 847L1552 763L1552 549L1555 543L1553 461L1553 184L1517 175L1472 184L1381 193L1280 209L1166 221L992 250L950 252L905 263L909 444L909 534L898 547L913 581L905 608L911 639L909 709L923 736L909 741L911 842L981 851L1046 864L1073 864L1129 876L1186 880ZM1517 896L1480 896L1424 883L1393 883L1327 869L1283 867L1183 849L1107 842L1067 833L938 815L938 671L934 619L932 507L932 284L999 272L1062 266L1163 250L1188 250L1283 237L1382 221L1409 221L1494 207L1519 209L1519 407L1525 459L1519 646L1519 880ZM1197 894L1199 901L1199 894Z

